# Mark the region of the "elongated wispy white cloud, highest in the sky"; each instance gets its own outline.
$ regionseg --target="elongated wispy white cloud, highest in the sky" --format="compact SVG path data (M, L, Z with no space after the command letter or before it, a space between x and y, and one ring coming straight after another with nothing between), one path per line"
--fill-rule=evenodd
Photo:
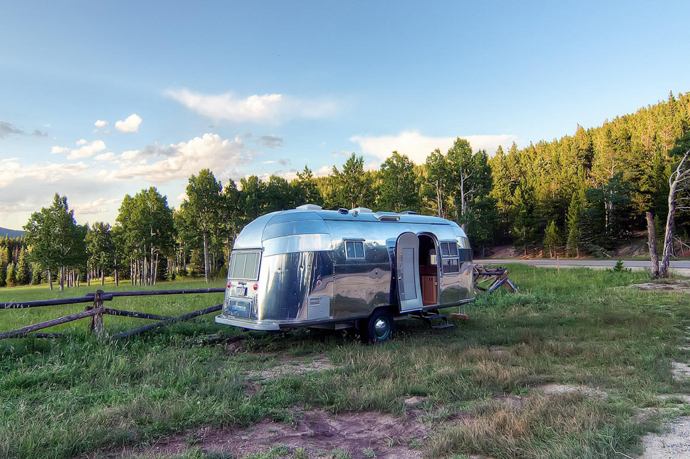
M300 99L283 94L254 94L238 97L233 93L202 94L189 89L171 89L165 93L188 109L216 121L280 122L292 118L332 116L338 105L329 99Z

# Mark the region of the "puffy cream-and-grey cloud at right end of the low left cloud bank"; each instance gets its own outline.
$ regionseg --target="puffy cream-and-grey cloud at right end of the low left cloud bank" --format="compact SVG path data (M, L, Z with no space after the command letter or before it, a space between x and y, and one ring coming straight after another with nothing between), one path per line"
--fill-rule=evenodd
M223 139L218 134L207 133L165 148L155 146L126 151L120 156L120 169L111 177L165 183L186 179L204 168L220 177L229 177L236 175L239 166L252 156L241 139Z

